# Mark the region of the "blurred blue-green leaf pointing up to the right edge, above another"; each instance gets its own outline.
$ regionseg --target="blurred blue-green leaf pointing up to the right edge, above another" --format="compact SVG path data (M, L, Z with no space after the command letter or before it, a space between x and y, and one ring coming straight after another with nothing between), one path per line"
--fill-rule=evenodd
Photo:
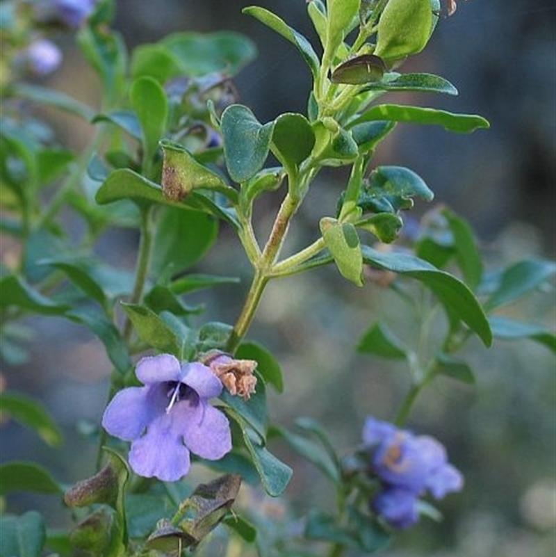
M556 273L556 263L528 259L507 267L497 277L496 289L484 302L487 311L507 305L537 290Z

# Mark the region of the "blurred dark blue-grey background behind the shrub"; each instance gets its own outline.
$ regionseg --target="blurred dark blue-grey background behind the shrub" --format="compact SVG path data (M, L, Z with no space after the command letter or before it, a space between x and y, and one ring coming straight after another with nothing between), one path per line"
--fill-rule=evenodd
M263 1L287 22L314 37L304 0ZM305 112L309 73L286 41L241 15L249 5L230 0L118 2L116 26L133 47L172 31L231 29L249 35L259 58L238 76L241 102L261 122L284 111ZM404 70L437 73L459 89L459 97L397 95L456 112L478 113L491 129L471 136L432 127L400 125L377 153L377 162L407 166L436 194L468 218L493 262L556 254L556 6L553 0L460 0L442 19L425 53ZM94 102L95 79L82 71L79 55L67 45L65 65L54 86ZM74 120L56 125L65 141L79 147L90 134ZM312 239L318 218L329 214L343 187L341 171L325 173L293 229L293 241ZM308 200L309 201L309 200ZM422 204L417 213L429 207ZM272 202L260 211L260 227L272 218ZM268 216L267 216L268 211ZM135 238L127 233L105 239L101 252L111 261L133 265ZM115 246L120 245L120 248ZM240 275L243 286L223 287L207 304L207 320L234 322L250 270L238 242L222 228L218 244L195 271ZM554 293L539 293L512 308L555 328ZM320 419L338 451L359 442L363 419L391 419L409 382L398 366L361 357L354 347L364 330L384 318L404 340L416 329L398 298L366 286L362 291L338 280L330 269L271 284L251 337L275 350L286 389L271 397L272 418L286 426L300 414ZM2 459L44 462L68 483L90 474L95 447L76 424L97 423L104 409L110 363L101 347L80 328L61 320L33 321L37 334L31 361L3 373L8 387L38 396L63 424L61 450L40 446L31 433L8 423L2 431ZM71 346L68 344L71 339ZM423 521L386 552L389 557L549 557L556 528L555 362L548 350L528 341L498 343L486 350L472 341L465 356L473 363L476 387L439 380L418 401L410 426L436 435L466 476L466 490L441 504L443 524ZM300 410L301 409L301 410ZM294 455L277 447L282 458ZM287 495L302 513L310 502L331 504L316 469L294 464ZM67 515L48 498L13 501L15 510L42 506L54 526Z

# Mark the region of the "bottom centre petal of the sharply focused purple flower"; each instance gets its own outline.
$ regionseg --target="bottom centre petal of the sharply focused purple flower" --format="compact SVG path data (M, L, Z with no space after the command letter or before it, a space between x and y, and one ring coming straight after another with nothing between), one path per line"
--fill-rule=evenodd
M181 437L175 435L174 412L158 416L147 433L131 444L129 465L139 476L154 476L166 482L177 481L188 473L190 455Z

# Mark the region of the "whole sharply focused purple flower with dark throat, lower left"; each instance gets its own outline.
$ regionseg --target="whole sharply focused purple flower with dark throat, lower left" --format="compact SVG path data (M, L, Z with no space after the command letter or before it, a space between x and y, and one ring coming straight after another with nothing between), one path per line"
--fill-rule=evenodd
M140 360L136 375L145 386L117 393L102 418L108 433L131 441L136 474L177 481L189 471L190 452L219 460L231 450L229 421L208 404L222 391L211 369L162 354Z

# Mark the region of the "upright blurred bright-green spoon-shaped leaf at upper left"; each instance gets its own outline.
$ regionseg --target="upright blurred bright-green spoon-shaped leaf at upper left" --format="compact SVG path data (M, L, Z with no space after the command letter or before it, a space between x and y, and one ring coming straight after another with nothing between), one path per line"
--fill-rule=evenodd
M131 106L142 129L145 161L152 161L158 141L164 136L168 118L168 102L162 86L152 77L138 77L129 90Z

